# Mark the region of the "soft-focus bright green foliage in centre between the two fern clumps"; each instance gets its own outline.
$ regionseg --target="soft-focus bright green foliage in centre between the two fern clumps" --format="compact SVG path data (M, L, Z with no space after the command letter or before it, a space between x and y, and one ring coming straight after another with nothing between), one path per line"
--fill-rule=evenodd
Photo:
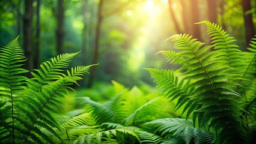
M87 109L94 111L94 118L99 124L115 122L126 126L138 126L145 121L169 116L165 114L166 109L162 109L162 106L168 105L165 98L159 95L146 95L136 86L130 90L117 82L114 82L114 86L117 94L105 103L93 101L88 97L78 97L78 100L83 100L85 104L91 106Z

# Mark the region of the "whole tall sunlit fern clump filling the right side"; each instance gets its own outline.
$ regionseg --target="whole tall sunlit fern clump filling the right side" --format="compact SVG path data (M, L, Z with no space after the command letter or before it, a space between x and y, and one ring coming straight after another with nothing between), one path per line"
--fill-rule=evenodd
M251 52L242 52L221 26L200 23L206 24L212 45L204 46L188 34L173 35L168 40L175 41L174 48L179 52L159 53L181 67L176 71L147 68L166 97L171 101L178 98L176 109L184 106L183 113L192 114L194 126L184 127L184 120L175 126L163 120L146 124L154 125L162 134L181 134L186 143L245 143L246 131L251 130L248 122L255 121L255 41Z

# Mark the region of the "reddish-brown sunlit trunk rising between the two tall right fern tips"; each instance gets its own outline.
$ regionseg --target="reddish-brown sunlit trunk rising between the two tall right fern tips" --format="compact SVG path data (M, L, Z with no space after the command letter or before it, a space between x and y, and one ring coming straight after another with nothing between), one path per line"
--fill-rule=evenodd
M200 13L197 0L191 0L191 13L192 13L192 22L200 22ZM201 41L201 32L200 25L193 25L193 34L195 38Z

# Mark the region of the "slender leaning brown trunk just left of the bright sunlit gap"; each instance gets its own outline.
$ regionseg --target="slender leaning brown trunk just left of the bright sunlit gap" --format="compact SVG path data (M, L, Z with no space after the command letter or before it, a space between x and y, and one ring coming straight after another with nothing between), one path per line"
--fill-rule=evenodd
M97 64L99 61L99 45L100 45L100 27L102 25L102 8L103 8L103 0L100 0L99 2L99 10L98 10L98 22L96 26L96 35L95 35L95 51L93 55L93 64ZM96 73L96 67L91 67L91 73L88 80L88 88L91 88L93 86L93 80Z

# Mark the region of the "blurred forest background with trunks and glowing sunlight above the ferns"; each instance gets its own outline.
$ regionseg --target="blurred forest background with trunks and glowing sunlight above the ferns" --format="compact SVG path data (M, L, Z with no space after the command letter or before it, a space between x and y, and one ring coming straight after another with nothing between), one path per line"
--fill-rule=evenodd
M124 86L153 84L142 68L169 68L159 50L165 41L187 33L210 43L202 20L222 25L246 50L255 35L255 0L1 0L0 46L20 35L28 58L38 68L60 53L81 51L73 63L97 64L81 85L111 80ZM173 65L173 67L177 67Z

